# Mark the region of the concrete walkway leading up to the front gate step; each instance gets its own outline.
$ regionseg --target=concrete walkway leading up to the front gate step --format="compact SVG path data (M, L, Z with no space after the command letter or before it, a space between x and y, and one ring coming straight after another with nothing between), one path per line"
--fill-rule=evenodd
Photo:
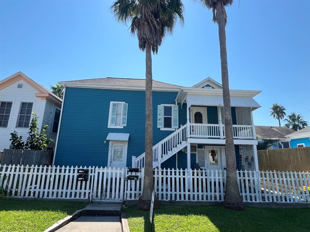
M57 232L122 232L119 216L81 216Z

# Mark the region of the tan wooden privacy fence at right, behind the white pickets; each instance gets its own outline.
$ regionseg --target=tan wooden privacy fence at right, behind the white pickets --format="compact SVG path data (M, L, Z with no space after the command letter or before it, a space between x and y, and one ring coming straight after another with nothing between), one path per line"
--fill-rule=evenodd
M310 171L310 147L257 151L259 170Z

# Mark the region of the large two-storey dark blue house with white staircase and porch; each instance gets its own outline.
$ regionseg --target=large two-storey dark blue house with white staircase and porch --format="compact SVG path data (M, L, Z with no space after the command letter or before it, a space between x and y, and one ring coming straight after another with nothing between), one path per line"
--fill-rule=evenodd
M55 165L143 167L145 80L99 78L59 82L63 106ZM230 90L237 168L258 170L253 99ZM153 168L226 168L222 85L192 87L153 80Z

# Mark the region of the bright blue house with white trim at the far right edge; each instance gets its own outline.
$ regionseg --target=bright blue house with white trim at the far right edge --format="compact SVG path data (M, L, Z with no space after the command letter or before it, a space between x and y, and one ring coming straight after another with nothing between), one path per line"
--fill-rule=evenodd
M282 140L284 148L310 147L310 127L303 128L285 136Z

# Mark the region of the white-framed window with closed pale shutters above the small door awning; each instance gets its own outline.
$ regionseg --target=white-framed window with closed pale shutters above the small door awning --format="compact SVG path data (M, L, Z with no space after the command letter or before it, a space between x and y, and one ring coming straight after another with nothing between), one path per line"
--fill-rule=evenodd
M109 111L109 128L123 128L127 126L128 104L125 102L111 101Z

